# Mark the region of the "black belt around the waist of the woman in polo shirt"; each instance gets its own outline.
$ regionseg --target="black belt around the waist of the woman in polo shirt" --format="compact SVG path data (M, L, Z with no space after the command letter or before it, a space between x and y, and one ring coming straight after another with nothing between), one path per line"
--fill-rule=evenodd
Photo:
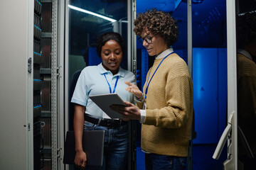
M124 121L124 120L97 119L97 118L92 118L90 115L87 115L87 114L85 114L85 121L93 123L95 125L104 126L109 129L115 129L115 128L119 128L120 126L127 125L127 121Z

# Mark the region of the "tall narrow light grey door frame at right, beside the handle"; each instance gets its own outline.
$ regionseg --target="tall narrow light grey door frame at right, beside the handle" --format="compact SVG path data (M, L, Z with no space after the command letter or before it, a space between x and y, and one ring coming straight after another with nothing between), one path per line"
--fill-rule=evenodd
M237 148L237 87L235 57L235 1L227 1L227 52L228 52L228 124L232 125L228 135L228 159L223 163L224 169L238 169Z

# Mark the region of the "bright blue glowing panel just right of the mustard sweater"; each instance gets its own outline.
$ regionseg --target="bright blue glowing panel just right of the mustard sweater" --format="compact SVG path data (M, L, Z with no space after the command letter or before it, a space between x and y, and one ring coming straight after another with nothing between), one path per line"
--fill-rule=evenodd
M193 48L195 128L193 143L218 142L218 50Z

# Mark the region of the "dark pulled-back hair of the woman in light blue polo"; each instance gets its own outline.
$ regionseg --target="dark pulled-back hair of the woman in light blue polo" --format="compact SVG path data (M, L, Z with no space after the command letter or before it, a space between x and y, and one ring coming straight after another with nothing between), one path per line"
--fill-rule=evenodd
M103 33L102 35L100 35L100 38L97 40L97 45L96 45L97 55L99 57L101 57L100 54L102 51L102 46L104 46L105 43L109 40L117 41L119 43L119 45L121 46L122 53L124 55L125 48L126 48L125 41L119 33L114 33L114 32L106 32L106 33Z

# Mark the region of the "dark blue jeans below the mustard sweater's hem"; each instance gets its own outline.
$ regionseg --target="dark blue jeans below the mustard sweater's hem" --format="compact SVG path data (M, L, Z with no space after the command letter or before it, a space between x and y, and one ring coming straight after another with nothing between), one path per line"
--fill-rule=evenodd
M145 153L145 165L146 170L183 170L186 169L186 157Z

